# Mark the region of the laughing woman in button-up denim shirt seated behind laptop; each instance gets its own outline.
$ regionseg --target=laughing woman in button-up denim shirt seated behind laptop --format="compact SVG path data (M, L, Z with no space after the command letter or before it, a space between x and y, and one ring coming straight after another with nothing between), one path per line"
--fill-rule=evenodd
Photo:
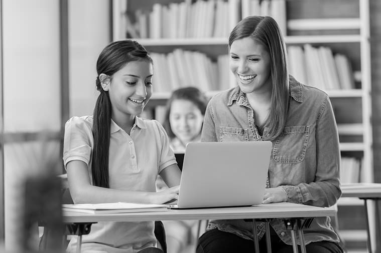
M334 205L340 197L339 140L326 93L288 75L286 46L271 17L241 20L229 36L229 66L237 87L215 95L205 113L201 141L273 142L263 203ZM256 161L253 161L255 164ZM239 168L231 168L232 173ZM273 252L292 252L291 233L281 220L271 224ZM266 252L264 225L260 251ZM198 253L249 252L251 224L213 220ZM329 217L315 218L304 230L309 253L341 253Z

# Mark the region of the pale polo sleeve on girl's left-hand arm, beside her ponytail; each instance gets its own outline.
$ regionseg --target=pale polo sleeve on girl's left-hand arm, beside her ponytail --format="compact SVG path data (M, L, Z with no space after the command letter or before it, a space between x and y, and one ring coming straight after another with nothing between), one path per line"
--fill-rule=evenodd
M93 145L91 117L72 117L65 124L63 161L80 160L89 165Z

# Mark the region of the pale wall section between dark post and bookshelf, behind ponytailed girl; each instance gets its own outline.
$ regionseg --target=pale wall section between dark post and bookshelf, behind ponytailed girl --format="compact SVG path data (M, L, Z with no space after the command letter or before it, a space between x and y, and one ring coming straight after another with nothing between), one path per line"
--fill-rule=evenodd
M69 0L70 116L92 115L96 60L110 39L110 1Z

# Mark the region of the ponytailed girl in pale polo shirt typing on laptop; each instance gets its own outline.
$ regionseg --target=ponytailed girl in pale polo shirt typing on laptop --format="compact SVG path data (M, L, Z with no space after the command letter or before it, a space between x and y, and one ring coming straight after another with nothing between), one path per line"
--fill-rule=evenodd
M164 203L177 199L180 170L164 128L139 118L152 95L153 63L131 40L106 46L98 57L93 116L65 125L63 160L74 203ZM169 189L156 192L157 175ZM82 252L151 252L154 222L98 222ZM76 238L68 251L75 251ZM157 251L152 251L157 252Z

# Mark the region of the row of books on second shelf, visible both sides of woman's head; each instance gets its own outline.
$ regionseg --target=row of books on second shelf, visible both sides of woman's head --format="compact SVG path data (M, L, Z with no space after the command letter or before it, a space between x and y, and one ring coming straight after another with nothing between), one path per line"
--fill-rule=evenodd
M304 51L303 51L304 49ZM289 72L301 83L322 90L354 89L354 75L348 58L333 55L330 48L309 44L288 47ZM169 92L195 86L203 91L225 90L231 81L228 55L213 62L205 54L175 49L169 54L151 53L154 60L154 91Z

